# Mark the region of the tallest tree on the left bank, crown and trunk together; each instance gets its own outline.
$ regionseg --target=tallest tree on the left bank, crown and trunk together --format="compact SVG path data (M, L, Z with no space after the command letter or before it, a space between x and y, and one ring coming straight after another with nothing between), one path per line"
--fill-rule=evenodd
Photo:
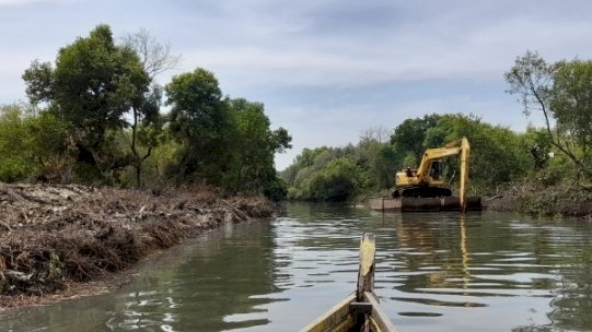
M98 25L61 48L55 69L35 61L23 80L31 102L46 103L68 124L79 179L112 181L126 158L113 153L109 132L128 126L125 115L144 104L150 83L136 52L115 45L111 28Z

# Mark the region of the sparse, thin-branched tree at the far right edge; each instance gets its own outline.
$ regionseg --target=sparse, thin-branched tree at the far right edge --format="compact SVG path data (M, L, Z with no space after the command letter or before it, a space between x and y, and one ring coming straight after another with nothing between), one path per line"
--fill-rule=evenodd
M524 112L544 116L548 142L576 166L574 178L592 177L592 61L548 64L538 54L527 51L504 76L508 92L520 96Z

